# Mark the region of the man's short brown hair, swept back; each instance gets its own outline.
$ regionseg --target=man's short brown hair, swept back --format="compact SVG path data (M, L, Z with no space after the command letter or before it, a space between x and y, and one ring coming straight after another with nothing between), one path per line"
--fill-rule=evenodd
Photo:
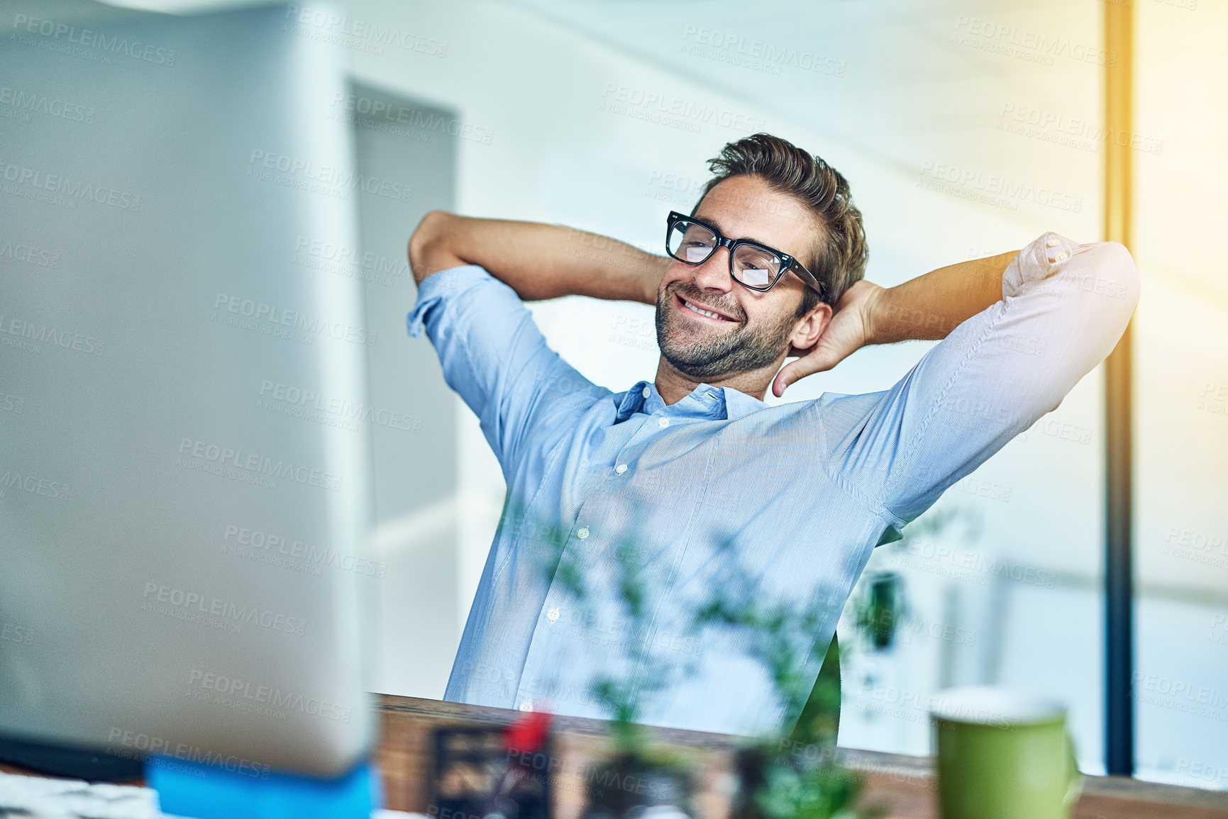
M852 204L849 183L839 171L818 156L812 156L792 142L771 134L753 134L721 149L721 155L707 161L716 174L704 187L699 200L729 177L756 176L770 188L793 195L823 226L814 241L809 258L802 259L807 270L823 282L826 301L833 307L845 291L866 273L869 248L861 225L861 211ZM699 203L695 204L699 208ZM691 210L691 215L695 210ZM819 303L819 293L807 287L797 309L801 318Z

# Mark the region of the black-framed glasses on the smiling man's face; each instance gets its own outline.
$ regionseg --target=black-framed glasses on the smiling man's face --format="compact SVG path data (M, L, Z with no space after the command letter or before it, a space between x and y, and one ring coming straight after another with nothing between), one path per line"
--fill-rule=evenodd
M729 239L704 220L669 211L666 219L666 252L686 264L704 264L716 248L729 250L729 278L743 287L766 292L780 278L792 270L826 301L823 282L801 262L754 239Z

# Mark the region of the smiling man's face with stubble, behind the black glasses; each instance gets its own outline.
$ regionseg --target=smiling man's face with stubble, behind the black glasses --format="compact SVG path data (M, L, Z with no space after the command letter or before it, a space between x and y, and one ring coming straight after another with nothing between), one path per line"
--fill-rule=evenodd
M804 264L815 239L815 220L793 196L761 179L737 176L717 183L693 214L728 238L752 238ZM768 292L743 287L729 276L729 250L717 248L702 264L672 259L657 289L657 345L675 370L690 378L760 370L790 346L806 285L792 271ZM716 312L696 313L686 303Z

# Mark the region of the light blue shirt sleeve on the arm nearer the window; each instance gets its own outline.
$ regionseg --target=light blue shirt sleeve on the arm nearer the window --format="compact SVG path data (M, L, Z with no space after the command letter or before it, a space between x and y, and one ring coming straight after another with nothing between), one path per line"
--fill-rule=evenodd
M943 491L1057 409L1113 351L1138 293L1122 244L1040 236L1007 266L1002 300L890 389L815 402L828 476L888 522L879 544L900 539Z

